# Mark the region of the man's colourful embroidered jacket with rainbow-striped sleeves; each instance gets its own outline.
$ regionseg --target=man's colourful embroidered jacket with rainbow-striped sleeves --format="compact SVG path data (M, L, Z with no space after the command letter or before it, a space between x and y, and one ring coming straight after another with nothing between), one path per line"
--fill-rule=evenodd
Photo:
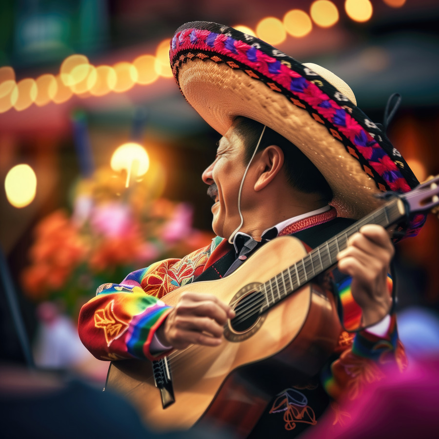
M210 246L182 259L162 260L130 273L120 284L101 285L96 297L83 305L80 312L79 334L83 344L98 359L155 359L149 350L150 342L171 310L160 298L196 278L202 279L207 272L220 279L230 263L224 266L230 250L227 240L217 237ZM343 295L349 297L349 282L344 284ZM349 300L344 302L347 313L352 314L355 307L349 309ZM343 331L333 357L320 374L324 391L333 399L339 399L341 395L356 399L365 385L384 377L381 366L389 361L396 363L400 370L405 368L405 355L394 317L388 333L382 338L365 331L355 336ZM299 423L302 423L301 427L315 424L329 402L326 398L324 407L314 411L310 402L314 397L308 393L315 388L311 385L307 391L303 388L285 389L284 394L273 400L269 413L283 414L282 427L285 422L285 430L295 429ZM295 405L292 393L300 394L300 403ZM316 393L315 399L322 399L322 393ZM307 402L305 406L303 400ZM336 405L332 404L332 407L335 410L334 422L342 422L343 414ZM295 433L299 431L301 428Z

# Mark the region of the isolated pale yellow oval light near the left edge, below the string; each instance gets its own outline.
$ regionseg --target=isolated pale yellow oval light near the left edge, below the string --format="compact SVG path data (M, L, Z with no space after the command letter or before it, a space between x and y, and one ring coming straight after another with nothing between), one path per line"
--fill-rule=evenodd
M29 205L37 193L37 176L28 164L14 166L6 175L4 189L8 201L17 208Z

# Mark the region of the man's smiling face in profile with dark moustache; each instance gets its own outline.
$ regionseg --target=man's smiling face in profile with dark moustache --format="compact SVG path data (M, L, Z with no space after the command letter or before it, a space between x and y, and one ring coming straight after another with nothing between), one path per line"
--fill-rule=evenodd
M232 126L221 138L214 162L202 174L210 186L207 193L215 201L212 229L222 238L228 239L240 223L238 193L245 167L243 141ZM244 188L242 192L241 201Z

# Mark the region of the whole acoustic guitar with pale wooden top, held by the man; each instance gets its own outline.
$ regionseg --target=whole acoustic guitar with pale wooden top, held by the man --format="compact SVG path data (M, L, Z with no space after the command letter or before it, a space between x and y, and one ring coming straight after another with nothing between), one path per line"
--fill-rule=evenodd
M341 327L334 299L312 280L365 224L390 227L439 204L439 176L403 195L307 253L293 237L273 239L229 276L194 282L162 300L175 305L184 291L211 293L236 317L217 347L191 345L153 361L114 361L106 388L124 394L158 431L198 422L226 426L246 437L279 390L316 375L333 352Z

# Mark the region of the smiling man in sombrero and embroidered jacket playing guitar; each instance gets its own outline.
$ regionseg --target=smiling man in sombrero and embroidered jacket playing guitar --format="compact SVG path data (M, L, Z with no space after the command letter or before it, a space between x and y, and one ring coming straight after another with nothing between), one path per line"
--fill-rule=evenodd
M212 226L218 237L183 259L157 262L98 289L82 308L79 330L101 359L157 359L193 344L215 349L224 343L224 325L237 308L209 291L192 292L192 285L173 307L159 299L183 285L233 276L277 236L294 235L306 248L317 247L378 207L381 200L374 195L380 190L404 192L418 183L382 129L356 106L347 84L331 72L207 22L181 26L170 57L183 96L222 134L202 176L215 201ZM400 233L416 233L419 222L400 226ZM297 436L317 423L328 395L356 399L365 383L383 378L379 363L404 367L389 316L393 253L377 224L350 237L337 256L338 270L349 277L343 285L357 304L344 307L343 320L360 316L357 327L369 328L355 338L339 331L318 376L300 383L291 378L261 413L251 437ZM332 406L335 422L342 422L348 415Z

